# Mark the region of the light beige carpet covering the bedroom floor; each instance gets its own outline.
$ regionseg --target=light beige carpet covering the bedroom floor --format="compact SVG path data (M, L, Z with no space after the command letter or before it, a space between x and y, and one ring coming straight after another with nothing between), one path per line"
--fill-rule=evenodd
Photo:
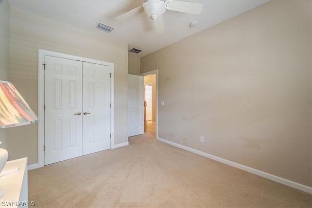
M28 172L38 208L312 207L311 194L158 142L152 134L129 146Z

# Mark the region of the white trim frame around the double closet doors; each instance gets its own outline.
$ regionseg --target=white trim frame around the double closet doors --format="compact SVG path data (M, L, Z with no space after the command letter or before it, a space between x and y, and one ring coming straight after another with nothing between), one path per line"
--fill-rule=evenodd
M38 49L38 168L44 166L44 96L45 96L45 89L44 89L44 63L45 63L45 56L52 56L52 57L60 57L60 58L67 58L72 60L78 60L82 62L89 62L95 64L101 64L111 67L111 144L110 149L114 148L114 63L85 58L85 57L78 57L69 54L62 54L53 51L47 51Z

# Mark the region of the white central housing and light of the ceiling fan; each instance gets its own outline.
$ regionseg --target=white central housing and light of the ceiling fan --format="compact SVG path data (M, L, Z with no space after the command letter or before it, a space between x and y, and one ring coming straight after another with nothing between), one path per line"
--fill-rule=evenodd
M143 3L144 12L155 20L165 11L165 1L163 0L145 0Z

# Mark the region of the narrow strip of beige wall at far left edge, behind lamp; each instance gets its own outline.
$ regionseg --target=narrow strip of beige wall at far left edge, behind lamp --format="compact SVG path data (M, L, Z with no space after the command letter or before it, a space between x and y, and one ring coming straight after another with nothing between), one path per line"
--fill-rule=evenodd
M0 80L9 81L10 5L0 1ZM8 150L9 130L0 129L1 148Z

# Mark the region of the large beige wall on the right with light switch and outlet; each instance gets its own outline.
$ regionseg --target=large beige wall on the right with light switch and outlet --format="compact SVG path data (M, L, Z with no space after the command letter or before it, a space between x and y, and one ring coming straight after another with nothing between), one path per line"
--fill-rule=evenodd
M311 3L273 0L142 57L158 136L312 187Z

